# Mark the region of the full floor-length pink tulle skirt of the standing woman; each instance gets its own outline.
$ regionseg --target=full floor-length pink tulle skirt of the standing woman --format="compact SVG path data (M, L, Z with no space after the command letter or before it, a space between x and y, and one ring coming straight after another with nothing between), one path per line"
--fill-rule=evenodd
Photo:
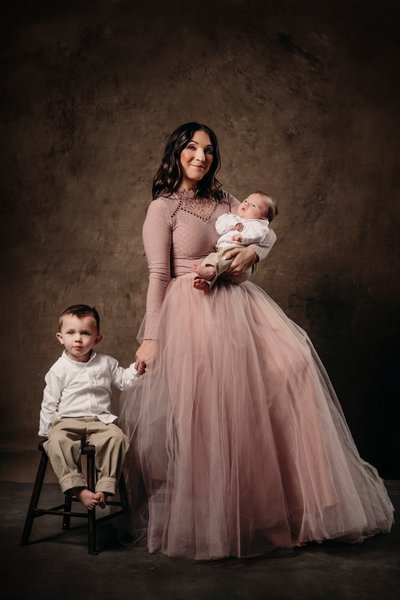
M250 282L192 281L170 283L156 361L121 396L149 551L244 557L388 532L384 484L306 333Z

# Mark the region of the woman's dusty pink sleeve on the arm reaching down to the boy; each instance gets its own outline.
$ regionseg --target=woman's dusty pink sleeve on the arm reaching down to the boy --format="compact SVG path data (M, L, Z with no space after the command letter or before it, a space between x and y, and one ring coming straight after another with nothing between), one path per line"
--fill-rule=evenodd
M150 204L143 225L143 243L149 267L144 339L158 339L161 305L171 280L172 229L170 208L163 198Z

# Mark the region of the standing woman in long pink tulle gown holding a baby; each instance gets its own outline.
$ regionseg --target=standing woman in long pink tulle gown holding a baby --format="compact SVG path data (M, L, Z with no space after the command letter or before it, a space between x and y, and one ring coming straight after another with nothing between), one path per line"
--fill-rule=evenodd
M149 551L254 556L388 532L383 482L358 455L305 332L251 282L193 289L215 220L238 204L219 165L208 127L174 131L143 227L150 278L136 357L147 374L140 402L124 394L121 419L138 451ZM231 273L274 241L270 231L266 250L232 250Z

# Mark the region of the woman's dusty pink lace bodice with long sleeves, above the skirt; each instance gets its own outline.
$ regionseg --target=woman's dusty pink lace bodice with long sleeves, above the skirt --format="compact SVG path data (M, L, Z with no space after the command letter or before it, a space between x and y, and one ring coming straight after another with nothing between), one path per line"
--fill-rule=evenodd
M178 192L151 202L143 225L149 266L144 339L157 339L161 305L171 279L192 273L192 265L215 249L216 219L238 204L225 192L219 202L197 198L193 192ZM270 230L268 248L253 246L260 259L268 254L275 239Z

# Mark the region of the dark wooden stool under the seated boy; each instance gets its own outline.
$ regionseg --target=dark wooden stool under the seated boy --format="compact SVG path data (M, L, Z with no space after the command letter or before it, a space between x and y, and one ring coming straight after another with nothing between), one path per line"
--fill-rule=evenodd
M74 512L71 510L72 501L78 502L75 496L65 494L64 504L60 504L59 506L55 506L54 508L38 508L40 493L42 491L44 476L46 474L47 464L49 462L49 458L46 454L45 449L43 448L43 443L39 444L39 450L41 452L41 458L39 463L38 472L36 475L35 485L32 491L32 497L28 508L28 514L26 515L25 526L22 532L21 537L21 546L25 546L29 541L29 536L31 533L33 520L36 517L41 517L42 515L56 515L63 518L63 529L70 528L71 517L79 517L87 519L88 522L88 551L89 554L97 554L96 550L96 525L98 523L103 523L104 521L109 521L110 519L114 519L115 517L119 517L122 514L127 514L129 512L129 503L128 503L128 495L126 492L125 478L123 473L121 473L120 480L118 482L119 488L119 501L112 501L107 499L107 506L119 506L120 510L112 512L105 517L101 517L96 519L96 509L86 510L85 512ZM95 465L95 455L96 448L95 446L91 446L89 444L82 443L81 454L86 456L87 461L87 483L88 489L92 492L95 491L96 486L96 465Z

